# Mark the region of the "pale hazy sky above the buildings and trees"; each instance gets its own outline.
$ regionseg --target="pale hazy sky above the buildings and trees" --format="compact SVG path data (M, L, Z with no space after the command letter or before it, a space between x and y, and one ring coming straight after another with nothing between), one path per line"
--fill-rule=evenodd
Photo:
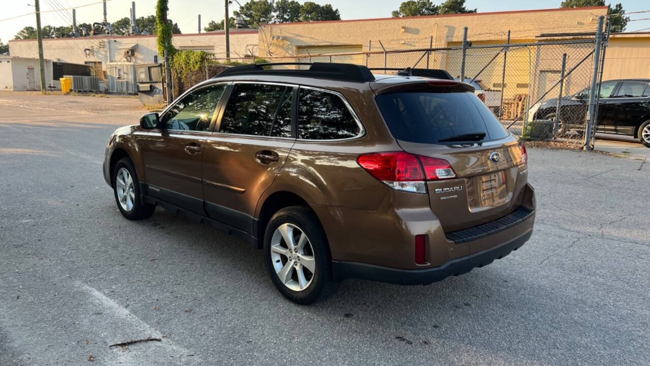
M244 3L245 0L240 0ZM441 3L443 0L435 1ZM617 0L621 2L626 12L650 10L650 3L647 0ZM300 0L303 3L304 0ZM363 18L385 18L391 16L402 0L315 0L320 4L330 3L338 8L341 19L363 19ZM562 0L467 0L467 8L478 8L479 12L507 11L556 8ZM136 0L136 17L148 16L155 13L156 0ZM21 16L34 12L34 0L0 0L0 40L7 42L14 38L16 33L27 25L36 27L36 16L29 14L19 18L6 20L15 16ZM94 4L94 5L88 5ZM81 7L88 5L86 7ZM60 10L65 8L77 8L77 23L92 23L102 21L103 6L101 0L40 0L41 24L42 25L71 25L72 10ZM108 21L116 21L129 16L131 0L109 0L107 3ZM238 5L233 1L232 10L237 10ZM47 12L57 9L58 11ZM198 31L197 15L201 14L201 23L205 26L209 21L221 21L224 18L224 0L169 0L169 16L178 23L183 33L196 33ZM66 16L63 14L67 12ZM632 19L650 18L650 13L630 14ZM650 28L650 20L630 21L626 31L636 31ZM650 31L650 29L647 29Z

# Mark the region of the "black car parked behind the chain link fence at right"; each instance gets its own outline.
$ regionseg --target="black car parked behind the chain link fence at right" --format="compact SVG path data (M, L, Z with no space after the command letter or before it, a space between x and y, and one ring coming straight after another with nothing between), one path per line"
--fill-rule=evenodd
M584 129L589 88L560 102L560 134ZM555 119L557 104L554 98L533 106L534 119ZM650 147L650 79L603 81L597 117L596 132L632 136Z

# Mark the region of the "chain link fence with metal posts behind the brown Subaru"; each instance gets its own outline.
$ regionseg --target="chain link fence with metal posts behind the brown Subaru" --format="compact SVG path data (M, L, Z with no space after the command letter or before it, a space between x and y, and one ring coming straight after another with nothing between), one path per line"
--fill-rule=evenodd
M599 32L536 42L449 42L445 48L385 49L372 51L266 57L271 63L352 63L375 73L395 74L395 69L439 68L457 80L471 83L475 94L512 132L524 139L553 140L590 148L597 119L599 79L604 59L603 17ZM564 37L568 38L568 37ZM219 71L219 64L253 63L252 58L214 57L204 70L185 76L181 92ZM259 62L257 59L256 62ZM279 66L303 68L301 65ZM393 69L393 70L390 70ZM598 81L598 82L597 82ZM179 95L179 94L175 94Z

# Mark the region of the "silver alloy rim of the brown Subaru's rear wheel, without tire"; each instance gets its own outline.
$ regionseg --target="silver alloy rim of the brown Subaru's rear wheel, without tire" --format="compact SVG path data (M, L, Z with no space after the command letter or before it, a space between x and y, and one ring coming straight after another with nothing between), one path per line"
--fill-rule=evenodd
M270 244L279 280L294 291L307 289L316 272L314 250L307 234L294 224L283 223L273 232Z

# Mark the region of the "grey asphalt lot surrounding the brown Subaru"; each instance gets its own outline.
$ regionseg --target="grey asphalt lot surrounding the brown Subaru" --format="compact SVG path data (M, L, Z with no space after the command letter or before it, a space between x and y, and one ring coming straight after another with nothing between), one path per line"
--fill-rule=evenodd
M650 364L650 162L530 148L521 249L426 287L344 281L304 307L236 238L160 208L122 218L104 148L144 112L0 93L0 365Z

